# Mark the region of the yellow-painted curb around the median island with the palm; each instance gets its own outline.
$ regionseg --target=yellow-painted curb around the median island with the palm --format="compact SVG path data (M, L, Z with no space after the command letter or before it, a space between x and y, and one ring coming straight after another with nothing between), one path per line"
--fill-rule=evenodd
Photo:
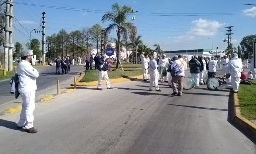
M84 74L86 72L81 72L80 76L78 79L76 79L76 86L97 86L98 81L92 81L92 82L79 82ZM116 82L123 82L123 81L128 81L128 80L136 80L138 78L142 78L142 75L139 76L132 76L132 77L126 77L126 78L117 78L117 79L109 79L110 83L116 83ZM102 80L102 84L105 84L105 80ZM74 86L74 84L70 84L71 86Z

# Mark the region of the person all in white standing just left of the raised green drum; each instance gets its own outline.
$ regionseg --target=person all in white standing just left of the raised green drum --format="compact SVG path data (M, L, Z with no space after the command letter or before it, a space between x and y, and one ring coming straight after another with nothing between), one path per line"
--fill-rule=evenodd
M151 60L149 61L149 69L150 69L150 81L149 81L149 91L153 89L153 85L156 88L156 91L161 91L158 86L158 71L157 71L157 56L153 55Z

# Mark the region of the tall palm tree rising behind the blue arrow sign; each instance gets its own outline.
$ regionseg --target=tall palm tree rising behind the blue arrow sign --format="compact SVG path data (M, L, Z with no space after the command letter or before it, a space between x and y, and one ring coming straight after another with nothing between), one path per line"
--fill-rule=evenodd
M124 5L119 6L118 3L114 3L112 5L112 11L107 12L103 15L101 21L104 23L105 21L111 21L111 24L108 25L108 27L105 29L106 33L109 34L112 30L116 30L117 33L117 65L119 64L120 59L120 38L123 36L123 38L127 37L128 33L131 33L134 30L134 27L131 23L126 22L126 18L128 15L132 12L132 9L130 6Z

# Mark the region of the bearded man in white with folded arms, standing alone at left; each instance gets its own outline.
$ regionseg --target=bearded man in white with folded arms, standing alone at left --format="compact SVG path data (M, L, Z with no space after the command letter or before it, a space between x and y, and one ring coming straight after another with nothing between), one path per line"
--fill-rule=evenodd
M39 73L32 67L33 54L29 50L20 53L21 61L17 65L17 75L19 77L18 91L22 97L22 108L20 120L17 128L25 128L28 133L37 133L34 128L35 95L37 90L37 80Z

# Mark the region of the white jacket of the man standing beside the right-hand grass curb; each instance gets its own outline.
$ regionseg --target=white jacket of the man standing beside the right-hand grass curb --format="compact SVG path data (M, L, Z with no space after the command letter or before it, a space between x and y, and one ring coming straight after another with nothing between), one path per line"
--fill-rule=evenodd
M242 61L238 57L233 57L227 65L226 74L230 72L232 77L240 77L242 68Z

